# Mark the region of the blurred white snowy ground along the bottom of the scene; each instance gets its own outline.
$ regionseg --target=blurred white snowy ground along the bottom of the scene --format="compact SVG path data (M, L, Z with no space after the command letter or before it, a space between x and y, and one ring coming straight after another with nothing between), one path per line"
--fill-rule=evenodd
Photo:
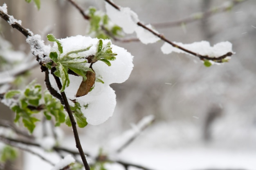
M156 123L142 132L121 153L110 155L110 157L136 163L153 170L209 170L214 168L218 170L254 170L256 167L255 128L248 126L228 131L228 129L221 130L220 124L219 128L215 128L216 130L213 132L213 141L206 144L200 139L199 128L192 124L184 122ZM91 131L91 134L101 136L96 131ZM94 154L98 152L100 146L110 153L108 150L110 150L111 142L119 140L119 138L113 139L112 137L110 137L112 140L105 137L101 140L88 136L81 138L85 152ZM72 136L66 137L63 145L75 149ZM58 162L59 159L56 155L49 155L48 158L54 162ZM25 155L25 170L50 170L51 167L40 158L30 154ZM107 167L108 170L124 169L122 166L113 164ZM133 169L136 168L129 170Z

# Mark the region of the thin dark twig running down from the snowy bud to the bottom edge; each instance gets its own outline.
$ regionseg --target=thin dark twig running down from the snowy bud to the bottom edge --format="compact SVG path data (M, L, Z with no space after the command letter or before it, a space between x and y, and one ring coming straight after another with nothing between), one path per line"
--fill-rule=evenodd
M53 70L52 70L52 75L54 76L54 79L55 79L55 81L57 83L58 88L61 90L61 88L62 88L61 80L59 79L59 77L54 75L54 71ZM69 103L67 101L67 97L66 97L65 92L61 92L61 97L63 99L64 105L65 105L65 109L66 109L66 111L68 113L68 116L70 117L72 129L73 129L73 133L74 133L74 138L75 138L75 141L76 141L76 148L79 150L81 159L83 161L83 165L85 166L85 170L90 170L90 166L88 165L88 162L87 162L87 160L85 158L85 154L83 152L83 148L82 148L81 143L80 143L78 131L77 131L77 128L76 128L76 121L75 121L75 119L73 117L73 114L72 114L70 105L69 105Z

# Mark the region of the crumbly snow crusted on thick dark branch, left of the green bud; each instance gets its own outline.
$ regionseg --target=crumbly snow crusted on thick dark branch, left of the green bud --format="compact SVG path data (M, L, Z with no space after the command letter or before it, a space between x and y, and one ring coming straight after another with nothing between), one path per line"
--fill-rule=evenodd
M46 46L41 39L41 35L32 35L27 38L27 43L30 45L31 53L43 59L49 54L50 46Z

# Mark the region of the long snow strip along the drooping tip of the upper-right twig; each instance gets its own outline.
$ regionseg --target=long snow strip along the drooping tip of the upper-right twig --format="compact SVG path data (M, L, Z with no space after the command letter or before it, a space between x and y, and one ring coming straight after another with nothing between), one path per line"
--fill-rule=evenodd
M173 43L189 51L193 51L200 55L208 55L209 57L220 57L222 55L227 54L228 52L233 52L232 44L228 41L219 42L214 46L210 46L210 43L207 41L193 42L192 44L182 44L181 42L173 42ZM176 47L173 47L171 44L168 44L167 42L163 44L163 46L161 47L161 50L164 54L169 54L172 52L186 53L185 51L182 51Z

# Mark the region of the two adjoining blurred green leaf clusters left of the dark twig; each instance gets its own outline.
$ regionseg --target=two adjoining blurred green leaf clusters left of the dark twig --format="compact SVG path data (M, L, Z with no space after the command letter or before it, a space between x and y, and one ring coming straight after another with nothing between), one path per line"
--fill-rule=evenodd
M39 121L35 114L40 111L43 112L47 120L53 116L56 122L55 126L60 126L65 122L66 113L61 102L47 91L43 94L42 96L40 84L35 84L33 81L24 91L11 90L4 95L5 99L12 100L10 108L16 113L14 121L18 122L22 119L30 133L33 132L36 122Z

